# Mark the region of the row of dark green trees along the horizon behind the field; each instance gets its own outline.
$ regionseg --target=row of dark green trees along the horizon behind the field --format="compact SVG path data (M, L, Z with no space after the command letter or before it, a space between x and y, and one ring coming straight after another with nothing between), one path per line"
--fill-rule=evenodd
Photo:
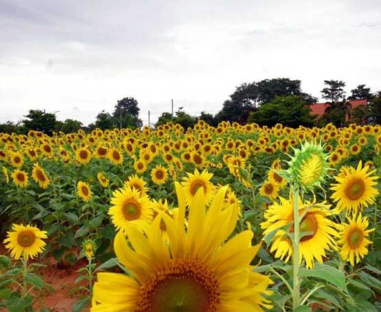
M317 98L301 90L300 80L289 78L266 79L259 82L244 83L235 88L229 99L224 101L221 110L212 115L200 112L198 116L189 115L178 108L174 115L163 112L156 126L168 122L179 123L184 129L192 127L199 120L210 125L218 125L220 121L230 121L244 124L255 122L259 125L273 126L283 123L296 128L299 125L312 127L333 123L340 127L347 123L378 123L381 124L381 91L373 93L365 84L360 84L346 97L345 82L341 80L325 80L321 97L326 100L322 116L312 115L310 106ZM351 108L350 100L366 99L366 106ZM102 130L113 128L141 128L139 119L140 108L133 97L124 97L117 101L112 113L102 110L95 121L88 126L80 121L66 119L57 121L56 115L42 110L30 110L26 119L18 123L8 121L0 124L0 132L25 134L29 130L39 130L46 134L53 132L76 132L80 129L91 131L94 128Z

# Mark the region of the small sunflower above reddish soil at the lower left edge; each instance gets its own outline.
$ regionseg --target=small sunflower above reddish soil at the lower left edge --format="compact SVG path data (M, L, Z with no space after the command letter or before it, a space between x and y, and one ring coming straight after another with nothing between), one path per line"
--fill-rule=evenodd
M23 226L23 224L13 224L12 230L7 232L8 236L3 243L5 248L10 250L12 258L19 260L33 259L38 253L43 252L47 239L47 232L39 230L36 226Z

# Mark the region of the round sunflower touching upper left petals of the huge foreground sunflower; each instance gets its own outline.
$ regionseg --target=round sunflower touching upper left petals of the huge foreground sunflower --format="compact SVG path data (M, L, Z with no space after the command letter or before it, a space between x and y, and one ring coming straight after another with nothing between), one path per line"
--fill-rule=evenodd
M144 229L152 221L152 203L135 188L127 186L114 191L111 204L108 214L117 230L126 232L131 225Z

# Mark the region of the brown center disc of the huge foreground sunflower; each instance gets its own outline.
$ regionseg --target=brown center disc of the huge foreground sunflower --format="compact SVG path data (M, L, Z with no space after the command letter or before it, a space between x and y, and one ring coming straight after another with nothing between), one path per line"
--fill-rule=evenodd
M141 288L136 312L216 312L218 282L205 265L178 260Z

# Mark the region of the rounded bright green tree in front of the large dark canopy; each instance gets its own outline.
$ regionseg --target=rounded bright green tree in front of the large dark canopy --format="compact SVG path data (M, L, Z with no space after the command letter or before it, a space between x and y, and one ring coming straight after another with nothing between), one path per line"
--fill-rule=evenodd
M298 96L275 97L266 105L259 106L256 112L252 112L249 122L272 127L282 123L288 127L297 128L299 125L311 127L314 125L316 116L310 114L310 107Z

